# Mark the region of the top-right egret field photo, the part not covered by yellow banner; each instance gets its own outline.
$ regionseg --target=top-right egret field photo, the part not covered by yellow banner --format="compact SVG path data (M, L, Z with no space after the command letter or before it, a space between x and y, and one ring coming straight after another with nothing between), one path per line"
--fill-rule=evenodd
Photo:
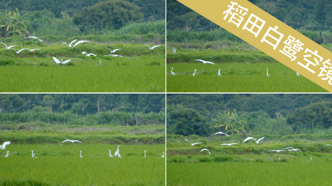
M332 50L331 1L249 1ZM167 93L327 92L181 2L167 0L166 9Z

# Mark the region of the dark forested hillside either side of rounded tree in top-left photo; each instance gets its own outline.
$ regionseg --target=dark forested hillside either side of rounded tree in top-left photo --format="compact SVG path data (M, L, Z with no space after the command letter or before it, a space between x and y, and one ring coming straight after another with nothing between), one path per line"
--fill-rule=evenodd
M61 13L66 11L69 16L79 13L83 7L90 7L98 2L106 0L0 0L0 12L8 9L14 11L16 8L22 14L33 13L33 11L48 10L56 17L62 17ZM155 19L165 19L165 0L127 0L139 7L144 17L154 16Z

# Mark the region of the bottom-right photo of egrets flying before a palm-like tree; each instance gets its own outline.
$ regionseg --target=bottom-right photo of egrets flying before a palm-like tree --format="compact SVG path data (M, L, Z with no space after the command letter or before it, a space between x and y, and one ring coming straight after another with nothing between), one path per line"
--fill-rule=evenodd
M332 184L331 94L169 93L166 100L167 186Z

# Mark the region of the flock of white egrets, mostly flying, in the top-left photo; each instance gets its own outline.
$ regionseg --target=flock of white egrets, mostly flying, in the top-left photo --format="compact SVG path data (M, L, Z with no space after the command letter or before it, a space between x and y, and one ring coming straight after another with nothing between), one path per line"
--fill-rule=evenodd
M32 37L25 37L25 39L26 38L32 38L32 39L38 39L40 42L43 42L43 40L41 40L41 39L39 39L39 38L37 38L37 37L34 37L34 36L32 36ZM70 44L67 44L67 43L63 43L63 44L66 44L66 45L68 45L68 47L71 47L71 45L74 43L74 42L76 42L77 41L77 39L75 39L74 41L72 41ZM73 47L75 47L75 46L77 46L77 45L79 45L79 44L82 44L82 43L85 43L85 42L90 42L90 41L78 41L74 46L72 46L71 48L73 48ZM2 43L2 42L1 42ZM6 47L6 49L7 50L9 50L11 47L16 47L17 45L14 45L14 46L10 46L10 47L8 47L6 44L4 44L4 43L2 43L5 47ZM144 45L147 45L147 44L144 44ZM149 46L149 45L147 45L147 46ZM160 45L158 45L158 46L154 46L154 47L150 47L149 46L149 48L150 48L150 50L152 50L153 48L155 48L155 47L160 47ZM106 47L105 47L106 48ZM13 48L12 48L13 49ZM22 50L25 50L25 49L27 49L27 50L30 50L30 52L33 52L34 50L40 50L41 48L38 48L38 49L28 49L28 48L22 48L21 50L15 50L15 49L13 49L13 50L15 50L15 52L16 52L16 54L19 54L19 52L21 52ZM109 48L106 48L106 49L109 49ZM110 51L111 51L111 53L115 53L117 50L121 50L121 48L119 48L119 49L115 49L115 50L111 50L111 49L109 49ZM96 54L93 54L93 53L90 53L90 54L88 54L88 53L86 53L86 52L82 52L82 54L85 54L87 57L90 57L91 55L93 55L93 56L97 56ZM120 56L120 55L116 55L116 54L108 54L108 55L105 55L105 56L113 56L113 57L123 57L123 56ZM66 64L67 62L70 62L71 60L66 60L66 61L63 61L63 59L61 59L61 62L60 62L60 60L58 60L58 59L56 59L54 56L53 56L53 60L57 63L57 64ZM100 65L101 65L101 61L100 61Z

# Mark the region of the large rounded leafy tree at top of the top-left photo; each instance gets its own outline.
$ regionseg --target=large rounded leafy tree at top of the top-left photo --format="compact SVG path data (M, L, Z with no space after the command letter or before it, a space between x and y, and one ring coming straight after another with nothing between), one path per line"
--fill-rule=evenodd
M143 18L139 9L130 2L109 0L96 3L94 6L82 8L73 16L76 25L112 25L123 24Z

